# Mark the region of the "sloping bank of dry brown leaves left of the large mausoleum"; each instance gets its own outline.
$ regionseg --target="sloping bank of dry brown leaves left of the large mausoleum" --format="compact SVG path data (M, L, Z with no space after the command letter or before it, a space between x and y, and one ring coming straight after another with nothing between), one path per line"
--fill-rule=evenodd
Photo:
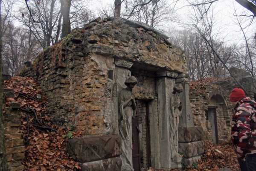
M26 171L74 171L78 163L66 154L68 131L53 125L45 105L47 99L41 87L32 78L13 77L5 81L5 87L14 89L15 99L6 98L6 106L11 101L21 105L21 132L26 154L23 165ZM81 131L72 132L81 136Z

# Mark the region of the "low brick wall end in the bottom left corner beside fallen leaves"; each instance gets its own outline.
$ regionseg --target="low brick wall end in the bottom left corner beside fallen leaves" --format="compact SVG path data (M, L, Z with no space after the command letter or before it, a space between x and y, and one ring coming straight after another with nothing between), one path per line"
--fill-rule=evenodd
M4 96L14 98L12 89L4 89ZM25 147L22 133L20 132L20 104L11 102L10 107L4 107L4 128L6 139L6 159L8 171L23 171L22 160L25 157Z

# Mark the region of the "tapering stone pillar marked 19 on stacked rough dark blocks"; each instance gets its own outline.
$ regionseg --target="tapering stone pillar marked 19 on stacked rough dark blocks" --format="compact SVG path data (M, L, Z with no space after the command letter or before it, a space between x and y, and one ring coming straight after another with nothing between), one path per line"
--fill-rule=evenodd
M185 162L192 165L193 162L198 162L201 154L204 153L203 129L194 126L189 101L189 81L184 73L177 76L176 84L181 84L183 87L183 92L180 93L182 113L178 130L179 151L183 153Z

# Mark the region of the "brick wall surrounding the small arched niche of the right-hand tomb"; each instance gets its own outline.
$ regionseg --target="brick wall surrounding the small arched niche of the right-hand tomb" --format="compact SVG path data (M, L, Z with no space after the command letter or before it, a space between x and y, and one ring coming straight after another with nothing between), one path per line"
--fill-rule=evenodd
M233 110L228 93L228 90L213 84L201 84L190 89L189 99L194 124L203 128L207 139L212 139L212 125L207 119L208 106L216 107L219 142L230 139Z

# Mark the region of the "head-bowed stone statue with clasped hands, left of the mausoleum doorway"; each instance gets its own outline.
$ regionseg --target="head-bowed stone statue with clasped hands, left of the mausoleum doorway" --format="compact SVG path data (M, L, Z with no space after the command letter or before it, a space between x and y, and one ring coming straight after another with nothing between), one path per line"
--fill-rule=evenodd
M134 171L132 167L132 128L131 119L136 115L136 103L132 89L137 84L134 76L125 81L127 88L121 90L119 96L119 134L122 138L121 159L122 171Z

